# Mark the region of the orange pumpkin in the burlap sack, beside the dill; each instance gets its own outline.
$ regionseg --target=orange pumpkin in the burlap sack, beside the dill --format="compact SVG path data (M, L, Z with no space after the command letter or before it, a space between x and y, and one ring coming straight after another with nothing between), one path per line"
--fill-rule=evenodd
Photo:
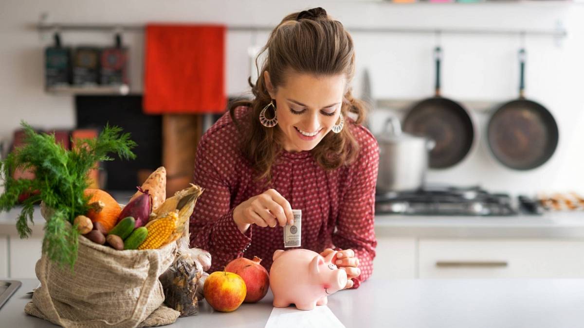
M91 195L89 199L89 211L86 216L92 222L99 222L107 232L116 225L117 217L121 213L120 204L110 194L100 189L85 189L85 195Z

